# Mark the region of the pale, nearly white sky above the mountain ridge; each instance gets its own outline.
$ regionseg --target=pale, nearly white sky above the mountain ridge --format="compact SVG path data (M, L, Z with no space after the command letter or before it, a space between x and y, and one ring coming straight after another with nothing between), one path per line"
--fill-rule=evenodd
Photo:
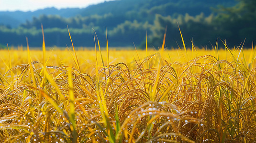
M47 7L56 7L57 9L85 8L104 1L110 0L0 0L0 11L34 11Z

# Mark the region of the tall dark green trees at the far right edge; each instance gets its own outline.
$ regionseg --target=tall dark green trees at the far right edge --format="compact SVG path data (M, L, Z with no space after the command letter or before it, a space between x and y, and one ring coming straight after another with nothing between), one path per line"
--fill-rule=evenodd
M227 43L239 44L246 38L246 46L256 41L256 0L239 0L234 7L217 10L215 25Z

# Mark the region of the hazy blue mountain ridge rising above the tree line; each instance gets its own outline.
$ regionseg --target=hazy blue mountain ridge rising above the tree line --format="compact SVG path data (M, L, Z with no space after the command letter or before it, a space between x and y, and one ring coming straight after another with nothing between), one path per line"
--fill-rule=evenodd
M108 13L121 16L117 18L122 18L122 15L136 17L136 14L145 15L145 11L150 11L152 15L157 13L163 16L174 13L189 13L189 15L195 16L201 12L204 12L205 15L209 15L212 12L211 7L217 7L218 5L234 6L235 3L235 0L114 0L105 1L97 5L90 5L83 9L67 8L58 10L52 7L33 12L0 11L0 24L16 28L26 20L30 21L33 17L39 17L43 14L59 15L64 18L77 15L104 15Z

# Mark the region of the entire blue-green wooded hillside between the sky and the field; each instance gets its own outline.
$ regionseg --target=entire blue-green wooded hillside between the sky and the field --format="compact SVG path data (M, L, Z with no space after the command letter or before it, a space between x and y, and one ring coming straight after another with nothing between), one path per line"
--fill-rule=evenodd
M75 46L93 46L93 29L100 43L105 44L107 27L110 46L133 46L134 42L143 48L147 32L149 46L157 48L167 27L166 45L177 47L180 42L178 22L189 45L193 40L197 46L209 46L217 38L227 39L232 46L247 38L251 45L254 39L250 31L255 31L255 1L238 2L236 5L235 0L116 0L85 9L37 10L31 12L33 18L26 18L18 27L2 23L0 43L26 45L25 37L28 37L30 46L41 46L42 23L47 46L70 45L68 25ZM0 12L1 16L6 14ZM249 22L250 26L245 26L243 21Z

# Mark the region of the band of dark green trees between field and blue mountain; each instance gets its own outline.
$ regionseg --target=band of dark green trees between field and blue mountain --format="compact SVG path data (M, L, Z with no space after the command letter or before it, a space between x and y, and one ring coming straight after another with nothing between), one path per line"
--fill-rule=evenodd
M26 45L28 37L30 46L42 45L41 23L44 25L45 43L47 46L66 47L71 45L67 25L75 46L93 47L96 31L101 45L106 44L106 27L111 47L133 46L145 48L146 33L148 45L157 48L161 45L167 27L167 47L182 46L178 25L186 45L209 47L217 39L225 40L230 46L239 46L246 39L245 46L256 40L256 1L239 0L233 7L219 7L211 14L167 15L165 5L152 7L149 10L130 10L124 14L105 13L88 16L78 15L63 18L57 15L41 15L26 21L18 28L0 25L0 43L5 45ZM167 6L165 6L167 7ZM158 12L152 12L152 11ZM159 10L164 10L160 11ZM92 29L93 28L93 29ZM134 44L133 44L134 43Z

